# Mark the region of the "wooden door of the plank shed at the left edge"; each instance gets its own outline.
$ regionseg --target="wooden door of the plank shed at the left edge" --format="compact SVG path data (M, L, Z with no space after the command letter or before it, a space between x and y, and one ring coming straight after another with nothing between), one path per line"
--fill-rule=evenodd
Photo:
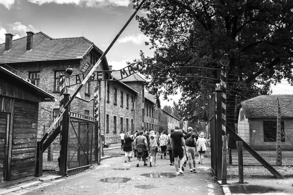
M0 112L0 181L7 179L9 115Z

